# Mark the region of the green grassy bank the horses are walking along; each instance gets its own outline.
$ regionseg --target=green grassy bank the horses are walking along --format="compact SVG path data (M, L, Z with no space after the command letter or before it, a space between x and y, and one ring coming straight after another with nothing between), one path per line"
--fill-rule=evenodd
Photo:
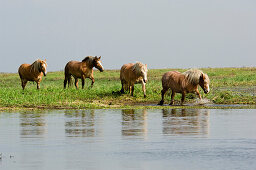
M63 89L63 72L49 72L41 82L41 89L36 90L36 83L29 82L22 90L18 74L0 74L0 108L50 108L50 109L82 109L82 108L130 108L136 105L157 104L161 99L161 77L163 73L174 69L149 70L146 85L147 98L143 98L141 85L136 85L134 97L128 94L112 94L121 88L118 70L94 72L94 87L86 80L86 88L78 90ZM175 69L177 70L177 69ZM211 92L207 95L200 92L203 98L215 104L256 104L256 68L204 68L211 79ZM178 71L185 71L178 69ZM81 81L79 81L81 87ZM181 95L177 94L178 104ZM194 94L186 96L186 103L196 100ZM169 103L170 96L166 97Z

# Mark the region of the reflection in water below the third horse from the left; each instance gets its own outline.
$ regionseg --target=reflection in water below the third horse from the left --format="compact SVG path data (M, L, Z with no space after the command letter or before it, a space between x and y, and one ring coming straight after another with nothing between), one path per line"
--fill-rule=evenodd
M147 136L147 111L125 109L122 110L122 135Z

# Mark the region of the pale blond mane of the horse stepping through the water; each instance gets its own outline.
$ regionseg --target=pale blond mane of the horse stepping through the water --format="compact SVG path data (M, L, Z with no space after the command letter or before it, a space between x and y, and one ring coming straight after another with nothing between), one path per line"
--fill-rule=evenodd
M199 79L201 77L201 75L203 74L205 76L205 80L204 81L210 81L209 77L207 74L204 74L202 70L198 70L198 69L189 69L187 71L185 71L184 73L182 73L183 75L185 75L186 80L193 84L193 85L197 85L199 84Z

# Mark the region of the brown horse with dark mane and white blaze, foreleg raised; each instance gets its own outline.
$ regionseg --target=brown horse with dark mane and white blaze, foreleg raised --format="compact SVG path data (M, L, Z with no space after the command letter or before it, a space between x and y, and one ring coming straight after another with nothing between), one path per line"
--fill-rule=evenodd
M84 88L84 81L86 78L92 80L91 87L94 83L93 77L93 67L96 67L100 72L104 71L104 68L101 64L100 57L87 56L82 62L79 61L70 61L65 66L65 80L64 80L64 89L66 88L67 82L68 86L71 85L71 75L75 78L75 86L78 88L78 79L82 79L82 89Z

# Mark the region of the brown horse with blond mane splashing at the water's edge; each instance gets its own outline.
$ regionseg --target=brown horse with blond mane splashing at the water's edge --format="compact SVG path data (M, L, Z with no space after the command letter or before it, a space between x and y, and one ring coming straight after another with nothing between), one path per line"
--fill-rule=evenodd
M195 92L199 99L202 99L198 91L198 85L200 85L204 90L204 93L207 94L210 91L209 84L209 77L201 70L190 69L184 73L180 73L178 71L169 71L162 77L162 100L159 102L159 105L163 105L164 94L168 89L172 90L170 105L172 105L174 102L175 93L182 94L181 105L183 105L186 93Z

